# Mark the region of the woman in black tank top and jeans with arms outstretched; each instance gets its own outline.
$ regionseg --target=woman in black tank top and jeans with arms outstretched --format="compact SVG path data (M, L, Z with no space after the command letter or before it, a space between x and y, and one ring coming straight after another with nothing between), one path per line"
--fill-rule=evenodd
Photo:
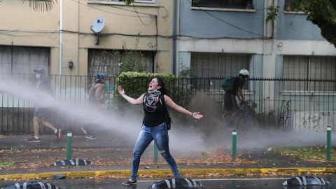
M165 122L165 105L180 113L191 116L191 118L201 119L203 115L201 115L200 112L190 112L177 105L167 95L165 83L160 77L153 78L149 83L148 92L141 94L137 99L128 97L121 86L118 86L118 92L127 100L127 102L130 102L130 104L142 104L144 108L144 119L142 121L141 131L133 151L131 176L129 180L122 184L124 186L137 184L137 172L141 155L153 140L158 146L158 151L161 153L162 157L165 158L172 170L174 178L181 178L176 162L169 152L168 128Z

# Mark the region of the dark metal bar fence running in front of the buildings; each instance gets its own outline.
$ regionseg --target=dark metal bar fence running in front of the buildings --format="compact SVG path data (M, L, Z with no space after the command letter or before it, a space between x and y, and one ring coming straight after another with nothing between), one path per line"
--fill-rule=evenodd
M1 134L31 134L34 113L34 75L0 76L0 132ZM50 76L55 99L73 106L87 106L88 91L94 76ZM170 96L177 104L190 110L201 111L207 117L221 118L224 91L223 78L176 78L169 85ZM149 83L149 80L148 80ZM283 78L251 78L244 87L250 110L262 120L265 129L314 130L323 132L336 123L336 80L300 80ZM106 109L116 109L116 78L108 78L104 86ZM302 87L306 86L306 87ZM145 89L148 86L143 86ZM134 87L139 87L134 83ZM146 91L144 91L146 92ZM141 95L141 94L139 94ZM34 100L32 100L34 99ZM38 99L37 99L38 100ZM120 109L120 111L122 111ZM51 111L46 119L63 129L80 128L76 120L64 118L62 113ZM214 114L216 114L214 116ZM204 122L203 122L204 123ZM218 123L221 123L219 121ZM50 132L40 127L40 132Z

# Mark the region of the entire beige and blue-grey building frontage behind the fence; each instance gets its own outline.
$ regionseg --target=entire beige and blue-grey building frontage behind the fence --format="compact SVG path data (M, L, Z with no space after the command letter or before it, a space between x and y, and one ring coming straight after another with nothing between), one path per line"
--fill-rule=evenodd
M248 81L244 93L258 100L257 113L281 116L283 104L292 102L288 115L296 113L298 120L314 117L311 112L336 119L335 82L311 81L336 79L336 49L306 14L286 9L286 1L135 0L126 6L124 0L59 0L48 11L1 1L1 79L43 67L55 76L61 99L86 99L90 80L57 76L118 76L136 68L176 76L190 69L198 78L223 78L248 69L251 78L284 79ZM276 20L265 22L269 7L277 6ZM219 82L204 80L201 90L211 89L220 100ZM2 107L27 106L1 98Z

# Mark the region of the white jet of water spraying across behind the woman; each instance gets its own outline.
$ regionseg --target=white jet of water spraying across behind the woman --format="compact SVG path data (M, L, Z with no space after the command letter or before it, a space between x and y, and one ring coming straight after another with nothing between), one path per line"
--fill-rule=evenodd
M123 115L118 110L109 110L99 112L90 109L88 106L78 106L70 102L61 101L50 97L48 94L36 91L34 85L27 83L3 82L0 81L0 91L3 94L8 94L20 99L28 100L38 106L48 106L61 113L71 121L78 124L92 123L99 127L99 130L104 132L118 132L120 139L130 142L129 145L134 145L137 139L141 126L141 117L136 115ZM126 91L127 93L127 91ZM2 97L3 97L2 94ZM118 95L118 94L117 94ZM202 102L205 107L211 104L207 99ZM211 109L217 109L217 106L211 106ZM206 116L210 116L211 110L202 109L201 111ZM202 112L203 111L203 112ZM214 148L223 147L230 151L232 146L232 130L228 130L220 118L214 118L214 125L202 125L211 130L211 135L199 132L199 130L179 130L179 127L187 127L186 125L172 125L172 130L169 130L169 146L172 151L209 151ZM193 126L195 127L195 125ZM335 139L335 134L332 136ZM326 141L326 134L316 132L300 132L290 131L283 132L279 130L256 130L247 134L237 132L237 148L239 150L253 150L255 148L267 148L276 146L313 146L323 145ZM332 140L335 141L335 140ZM335 144L335 142L332 142Z

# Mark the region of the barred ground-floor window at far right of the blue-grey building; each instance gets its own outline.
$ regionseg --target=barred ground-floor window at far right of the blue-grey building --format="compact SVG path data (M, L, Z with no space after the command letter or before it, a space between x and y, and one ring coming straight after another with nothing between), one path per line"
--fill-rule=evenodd
M283 56L283 78L295 79L286 81L284 90L335 91L336 57Z

